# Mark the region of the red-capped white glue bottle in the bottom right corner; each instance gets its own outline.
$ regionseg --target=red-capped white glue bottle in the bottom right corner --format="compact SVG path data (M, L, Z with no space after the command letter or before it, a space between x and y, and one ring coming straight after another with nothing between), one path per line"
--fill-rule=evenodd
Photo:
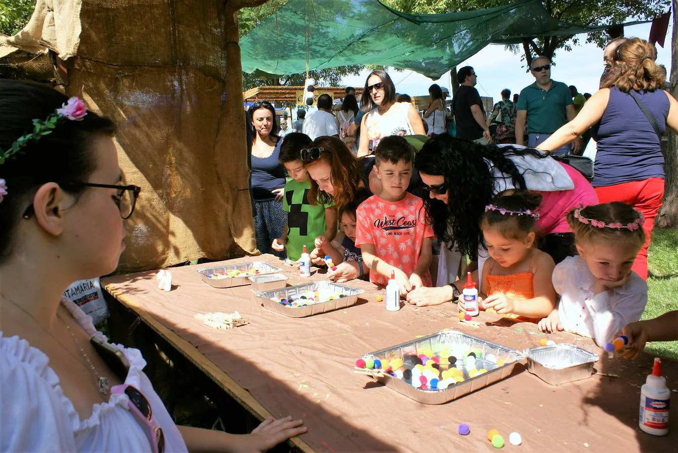
M669 400L671 391L666 388L662 376L661 360L654 359L652 374L647 376L640 389L640 416L638 426L647 434L666 435L669 433Z

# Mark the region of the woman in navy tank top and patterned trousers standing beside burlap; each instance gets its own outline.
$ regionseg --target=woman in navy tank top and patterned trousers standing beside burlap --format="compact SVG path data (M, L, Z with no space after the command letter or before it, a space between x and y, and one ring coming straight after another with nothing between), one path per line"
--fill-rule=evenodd
M278 137L275 109L270 102L255 102L248 112L252 121L252 198L254 199L254 232L256 247L261 253L275 253L271 243L283 235L285 219L283 192L285 167L279 162L283 139Z

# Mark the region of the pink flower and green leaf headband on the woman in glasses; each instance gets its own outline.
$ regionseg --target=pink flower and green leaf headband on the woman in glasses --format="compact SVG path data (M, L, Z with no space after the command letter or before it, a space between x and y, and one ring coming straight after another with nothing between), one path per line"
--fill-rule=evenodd
M85 107L85 103L80 98L74 96L67 102L64 102L61 108L56 109L53 114L47 116L45 120L34 119L33 131L31 133L16 139L8 150L0 150L0 165L5 163L5 160L16 157L16 154L23 154L24 150L22 148L31 142L31 140L37 142L43 135L52 133L52 129L64 118L71 121L81 121L86 114L87 107ZM0 179L0 202L2 202L3 197L6 195L7 184L5 184L5 179Z

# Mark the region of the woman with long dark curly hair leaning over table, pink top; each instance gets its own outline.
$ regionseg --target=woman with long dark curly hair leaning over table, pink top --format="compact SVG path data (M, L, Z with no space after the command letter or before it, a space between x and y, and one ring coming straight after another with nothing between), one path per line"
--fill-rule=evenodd
M487 251L479 219L496 194L530 190L542 196L536 232L541 238L540 249L556 263L576 253L565 213L598 200L589 181L578 171L521 146L481 145L437 135L418 152L414 166L428 192L424 196L427 219L444 243L438 284L455 280L461 254L477 255L481 274ZM419 288L409 293L407 300L416 305L437 305L455 299L461 286L453 283Z

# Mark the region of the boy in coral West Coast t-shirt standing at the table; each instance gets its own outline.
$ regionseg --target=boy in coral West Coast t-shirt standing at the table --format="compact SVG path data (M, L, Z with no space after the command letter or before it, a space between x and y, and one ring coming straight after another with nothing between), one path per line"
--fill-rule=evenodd
M431 286L431 225L426 224L424 202L408 192L414 149L403 137L384 137L374 153L380 193L367 198L356 211L355 244L363 264L370 268L370 282L388 283L391 272L401 295Z

